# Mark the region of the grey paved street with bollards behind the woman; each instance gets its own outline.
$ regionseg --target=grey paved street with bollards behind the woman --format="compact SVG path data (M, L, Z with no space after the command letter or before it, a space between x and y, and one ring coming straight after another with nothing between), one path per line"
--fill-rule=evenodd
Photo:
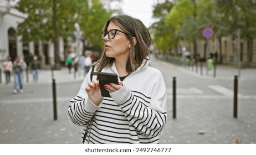
M238 80L238 117L233 117L234 75L237 69L217 66L200 75L156 58L166 82L168 118L160 143L256 143L256 69L242 69ZM199 70L199 69L198 69ZM205 70L203 70L205 72ZM3 74L2 74L3 76ZM23 94L14 95L12 84L0 84L0 143L80 143L83 127L68 117L69 100L84 76L54 71L57 82L58 120L53 120L52 76L42 70L39 81L24 80ZM173 118L173 77L176 77L176 118Z

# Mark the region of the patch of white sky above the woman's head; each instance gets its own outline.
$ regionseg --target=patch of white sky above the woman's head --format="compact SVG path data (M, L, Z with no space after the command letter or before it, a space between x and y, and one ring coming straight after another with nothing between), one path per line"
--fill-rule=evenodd
M152 11L155 3L156 0L122 0L120 4L125 14L140 19L149 27L153 23ZM112 8L118 6L116 3L111 5Z

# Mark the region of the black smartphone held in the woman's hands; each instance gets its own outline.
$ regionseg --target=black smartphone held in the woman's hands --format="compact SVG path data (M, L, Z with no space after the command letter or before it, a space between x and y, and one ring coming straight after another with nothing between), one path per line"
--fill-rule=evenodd
M99 72L98 73L98 80L100 83L100 91L101 95L104 97L111 97L109 95L109 91L107 91L104 87L104 85L109 85L110 83L117 84L118 83L118 76L114 73L105 73L105 72Z

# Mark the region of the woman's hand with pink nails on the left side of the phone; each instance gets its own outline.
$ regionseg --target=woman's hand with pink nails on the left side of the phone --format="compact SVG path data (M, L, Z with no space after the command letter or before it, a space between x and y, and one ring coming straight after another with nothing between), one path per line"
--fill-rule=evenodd
M95 105L99 105L100 102L103 100L103 96L101 95L100 91L99 81L93 80L89 82L88 86L85 87L85 91L87 92L91 102L93 102Z

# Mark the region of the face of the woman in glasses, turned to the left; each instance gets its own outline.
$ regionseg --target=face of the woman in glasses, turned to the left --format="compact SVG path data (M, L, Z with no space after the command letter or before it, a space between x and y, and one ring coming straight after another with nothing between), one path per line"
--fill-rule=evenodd
M107 27L107 32L112 29L118 29L124 32L117 24L110 22L109 27ZM109 39L107 35L104 37L105 41L105 51L106 56L110 58L127 60L130 53L130 41L126 38L124 33L119 31L116 32L116 35L113 39Z

